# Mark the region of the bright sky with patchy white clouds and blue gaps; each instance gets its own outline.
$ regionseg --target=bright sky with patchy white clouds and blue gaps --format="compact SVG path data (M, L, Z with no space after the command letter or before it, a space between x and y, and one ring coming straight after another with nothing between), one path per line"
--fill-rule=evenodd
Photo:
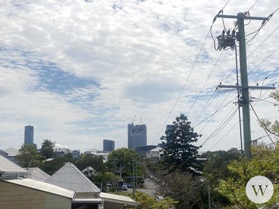
M0 149L20 148L25 125L33 125L38 148L44 139L82 151L102 150L103 139L127 147L127 125L135 116L135 124L146 124L147 144L158 144L165 125L181 113L202 134L197 145L213 136L201 151L239 148L236 91L216 91L220 82L236 84L235 52L216 52L207 36L226 2L1 1ZM279 7L277 1L255 2L230 0L223 13L252 7L251 16L267 17ZM234 21L218 18L213 37L224 25L234 28ZM278 22L279 11L246 46L251 86L279 84ZM246 24L249 34L262 22ZM275 121L270 93L250 91L261 98L252 102L259 118ZM252 111L250 116L252 139L265 136Z

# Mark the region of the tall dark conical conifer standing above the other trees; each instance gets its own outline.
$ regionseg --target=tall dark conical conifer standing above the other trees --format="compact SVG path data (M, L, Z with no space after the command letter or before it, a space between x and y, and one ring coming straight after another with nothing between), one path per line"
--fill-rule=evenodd
M173 126L165 131L160 139L166 145L163 154L163 163L171 170L186 171L193 166L197 156L198 146L193 145L202 135L194 132L188 118L181 114L176 117Z

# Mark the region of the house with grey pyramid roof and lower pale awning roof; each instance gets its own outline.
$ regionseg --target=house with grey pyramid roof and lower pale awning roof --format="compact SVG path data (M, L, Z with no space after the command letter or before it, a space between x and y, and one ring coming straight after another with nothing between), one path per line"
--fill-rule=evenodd
M72 202L76 208L120 209L126 205L138 205L128 196L100 192L100 189L70 162L56 171L46 182L74 190L76 193Z

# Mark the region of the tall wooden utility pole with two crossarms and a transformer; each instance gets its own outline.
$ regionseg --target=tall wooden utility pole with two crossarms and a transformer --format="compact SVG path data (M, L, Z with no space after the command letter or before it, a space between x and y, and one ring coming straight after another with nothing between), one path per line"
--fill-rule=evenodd
M229 86L229 85L218 85L218 88L237 88L241 90L242 98L240 104L242 107L242 116L243 116L243 138L244 138L244 153L247 160L250 160L250 144L251 144L251 130L250 130L250 106L249 106L249 89L275 89L275 87L266 87L266 86L248 86L248 74L247 74L247 61L246 61L246 38L245 38L245 29L244 29L244 20L262 20L262 25L269 20L269 17L250 17L246 16L246 13L238 13L235 15L216 15L220 18L232 18L237 20L237 25L239 32L234 36L235 31L232 31L232 34L218 36L218 49L225 49L226 47L235 47L235 39L239 41L239 62L240 62L240 73L241 73L241 86ZM237 67L237 66L236 66ZM240 105L239 104L239 105ZM242 144L241 144L242 146Z

